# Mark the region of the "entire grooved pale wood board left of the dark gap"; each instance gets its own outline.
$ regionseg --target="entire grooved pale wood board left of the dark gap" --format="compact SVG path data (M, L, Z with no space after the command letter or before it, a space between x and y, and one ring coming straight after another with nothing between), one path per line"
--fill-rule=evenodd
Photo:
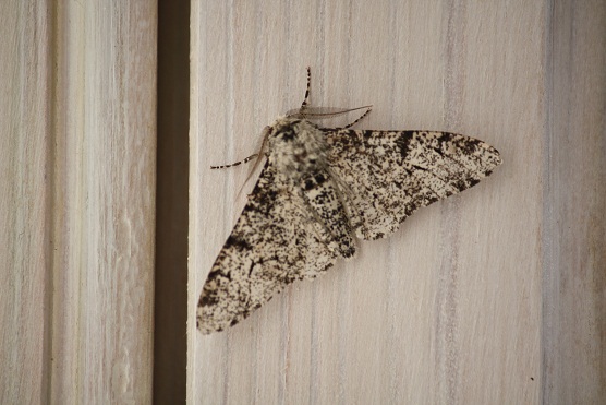
M0 15L0 403L149 403L155 2Z

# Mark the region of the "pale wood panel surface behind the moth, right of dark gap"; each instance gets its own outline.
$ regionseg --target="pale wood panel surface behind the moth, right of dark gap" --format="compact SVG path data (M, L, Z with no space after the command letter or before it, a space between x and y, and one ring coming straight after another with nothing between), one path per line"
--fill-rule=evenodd
M598 1L194 2L189 401L599 403L604 12ZM459 132L505 164L202 336L202 285L253 183L239 195L246 168L208 167L256 152L262 129L300 105L306 65L312 105L373 104L359 128Z

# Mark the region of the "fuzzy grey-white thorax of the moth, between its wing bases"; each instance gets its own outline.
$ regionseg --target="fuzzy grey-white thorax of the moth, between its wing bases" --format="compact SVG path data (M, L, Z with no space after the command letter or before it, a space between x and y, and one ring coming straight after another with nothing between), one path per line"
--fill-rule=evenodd
M279 118L268 132L268 159L290 178L301 178L326 167L328 143L312 122Z

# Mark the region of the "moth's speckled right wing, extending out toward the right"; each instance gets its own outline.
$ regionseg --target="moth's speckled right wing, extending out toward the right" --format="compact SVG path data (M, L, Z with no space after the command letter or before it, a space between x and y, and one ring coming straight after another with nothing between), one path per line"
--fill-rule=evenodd
M361 218L361 239L388 236L415 210L469 189L501 163L487 143L448 132L325 132L330 168Z

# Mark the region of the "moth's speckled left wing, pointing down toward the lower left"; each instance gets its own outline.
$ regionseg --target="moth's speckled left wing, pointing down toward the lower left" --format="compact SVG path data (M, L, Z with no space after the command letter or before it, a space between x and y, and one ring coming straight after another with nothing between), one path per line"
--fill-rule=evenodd
M204 334L222 331L295 279L313 278L337 254L310 228L296 190L267 162L215 261L197 307Z

